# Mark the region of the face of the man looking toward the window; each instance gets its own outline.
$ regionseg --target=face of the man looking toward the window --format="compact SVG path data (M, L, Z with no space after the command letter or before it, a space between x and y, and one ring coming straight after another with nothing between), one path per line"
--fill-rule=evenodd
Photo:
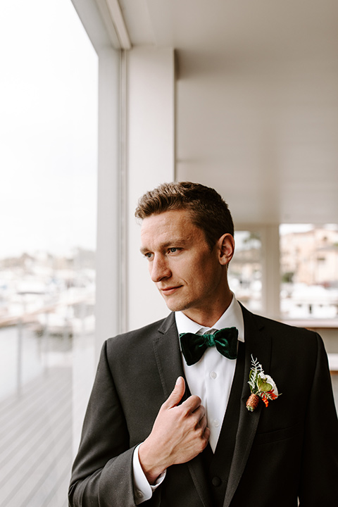
M171 311L196 320L224 292L225 266L219 251L209 248L204 232L186 210L144 218L141 252L149 261L151 280Z

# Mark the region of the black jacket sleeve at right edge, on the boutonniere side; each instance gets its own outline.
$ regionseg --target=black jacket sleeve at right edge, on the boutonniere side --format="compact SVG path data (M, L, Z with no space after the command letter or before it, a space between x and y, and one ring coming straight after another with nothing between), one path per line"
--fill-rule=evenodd
M338 478L338 421L323 341L317 334L317 362L305 420L300 507L335 505Z

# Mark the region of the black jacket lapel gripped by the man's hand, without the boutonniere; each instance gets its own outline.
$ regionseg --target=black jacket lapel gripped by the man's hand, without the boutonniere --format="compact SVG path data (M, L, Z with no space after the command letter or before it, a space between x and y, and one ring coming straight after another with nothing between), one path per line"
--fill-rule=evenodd
M158 328L158 334L153 339L153 346L165 399L167 399L169 394L173 391L177 377L184 377L186 384L186 390L183 396L184 401L184 399L189 397L190 393L182 367L182 357L174 313L171 313L168 318L163 321L161 327ZM201 497L204 507L212 507L201 455L196 456L196 458L189 461L187 465L192 475L194 486Z

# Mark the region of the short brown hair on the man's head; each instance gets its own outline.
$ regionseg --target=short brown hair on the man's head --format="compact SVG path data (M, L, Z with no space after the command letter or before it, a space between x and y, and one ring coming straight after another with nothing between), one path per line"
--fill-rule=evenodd
M150 215L178 209L190 211L192 223L204 231L211 249L223 234L234 235L234 223L227 204L213 188L200 183L159 185L139 199L135 216L143 220Z

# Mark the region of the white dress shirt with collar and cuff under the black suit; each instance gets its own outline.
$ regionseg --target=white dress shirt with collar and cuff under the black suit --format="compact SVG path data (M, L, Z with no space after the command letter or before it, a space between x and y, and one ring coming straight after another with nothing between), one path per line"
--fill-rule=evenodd
M175 320L179 335L183 332L212 333L223 329L223 327L237 327L238 339L244 342L243 314L234 295L232 295L230 306L213 327L203 327L194 320L189 319L182 312L175 312ZM236 360L227 359L215 347L210 347L206 349L204 355L196 364L188 366L184 357L182 357L182 364L191 394L199 396L201 404L206 408L210 429L209 443L211 449L215 452L230 396ZM156 484L152 486L149 484L139 463L138 448L139 446L135 449L133 456L134 496L137 505L151 499L153 491L163 482L165 477L164 472L158 477Z

